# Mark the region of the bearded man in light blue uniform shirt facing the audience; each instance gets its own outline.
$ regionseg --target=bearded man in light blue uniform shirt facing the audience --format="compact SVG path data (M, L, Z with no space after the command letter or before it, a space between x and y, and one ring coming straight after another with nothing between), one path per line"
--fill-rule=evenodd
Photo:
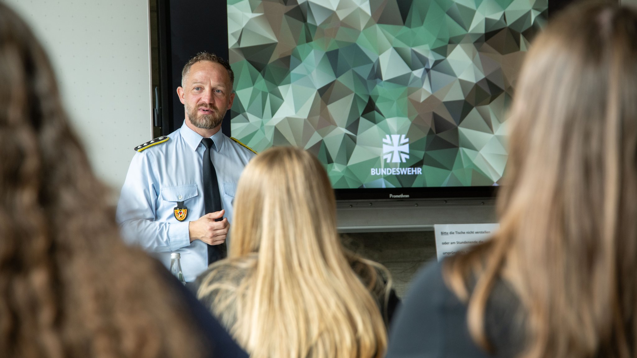
M190 59L177 89L185 121L135 148L117 205L124 240L167 268L171 253L179 253L187 282L225 256L236 183L255 155L220 131L233 104L233 82L233 70L217 55Z

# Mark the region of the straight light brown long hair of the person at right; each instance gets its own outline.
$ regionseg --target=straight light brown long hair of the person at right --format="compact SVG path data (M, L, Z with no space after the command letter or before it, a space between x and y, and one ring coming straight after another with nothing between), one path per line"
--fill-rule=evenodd
M588 3L552 20L510 123L501 229L445 267L474 340L489 348L485 304L506 280L527 313L524 357L635 357L637 14Z

